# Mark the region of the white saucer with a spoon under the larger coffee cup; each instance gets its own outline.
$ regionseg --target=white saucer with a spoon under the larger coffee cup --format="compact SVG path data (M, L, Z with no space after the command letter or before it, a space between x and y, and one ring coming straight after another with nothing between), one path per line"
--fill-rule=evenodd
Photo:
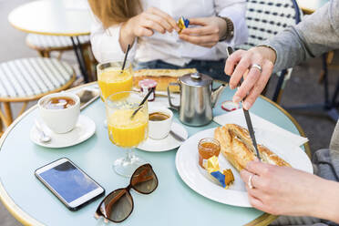
M77 120L77 126L67 133L58 134L47 128L47 126L40 121L41 127L47 136L51 137L49 142L41 142L38 139L38 131L36 126L31 129L30 137L37 145L46 148L66 148L76 145L89 139L96 132L96 124L91 118L80 115Z

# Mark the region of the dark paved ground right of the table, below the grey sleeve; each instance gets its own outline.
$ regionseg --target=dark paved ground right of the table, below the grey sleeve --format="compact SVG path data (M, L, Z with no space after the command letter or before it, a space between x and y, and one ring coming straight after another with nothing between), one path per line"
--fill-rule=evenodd
M336 53L339 56L339 53ZM339 64L335 59L334 64ZM292 107L303 104L324 103L324 86L318 84L318 77L322 62L319 58L311 59L301 66L294 67L292 78L288 81L282 95L281 105L283 107ZM339 76L339 70L329 70L330 93L334 92L336 79ZM272 98L272 89L276 84L276 77L273 77L270 84L268 97ZM273 86L274 85L274 86ZM315 111L301 114L301 112L290 111L302 126L306 137L310 139L311 150L327 148L334 130L335 123L324 113L315 113Z

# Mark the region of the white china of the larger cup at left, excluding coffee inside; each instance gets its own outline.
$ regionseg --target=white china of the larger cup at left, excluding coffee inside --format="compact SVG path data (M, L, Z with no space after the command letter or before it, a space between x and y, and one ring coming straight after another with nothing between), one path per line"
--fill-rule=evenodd
M51 98L72 98L75 101L74 105L63 109L46 108L46 103ZM67 133L77 125L77 119L80 115L80 98L76 94L61 92L46 95L40 98L37 102L40 117L48 128L55 133Z

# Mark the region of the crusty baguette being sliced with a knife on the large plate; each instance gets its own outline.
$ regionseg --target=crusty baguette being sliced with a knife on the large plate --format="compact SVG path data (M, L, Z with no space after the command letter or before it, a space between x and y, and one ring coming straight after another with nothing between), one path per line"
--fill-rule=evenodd
M246 128L235 124L226 124L214 130L214 138L221 143L221 153L238 171L244 169L248 162L256 158L256 151L252 146L252 139ZM258 145L258 149L262 162L291 167L289 163L263 145Z

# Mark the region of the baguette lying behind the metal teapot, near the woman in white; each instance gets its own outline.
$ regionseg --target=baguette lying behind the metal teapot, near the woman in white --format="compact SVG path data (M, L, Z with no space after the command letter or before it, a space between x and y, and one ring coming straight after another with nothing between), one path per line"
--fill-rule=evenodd
M195 68L185 69L140 69L134 72L133 87L139 88L139 81L153 79L158 82L156 90L166 91L170 82L178 82L178 78L189 73L195 73ZM171 87L172 92L179 92L179 87Z

